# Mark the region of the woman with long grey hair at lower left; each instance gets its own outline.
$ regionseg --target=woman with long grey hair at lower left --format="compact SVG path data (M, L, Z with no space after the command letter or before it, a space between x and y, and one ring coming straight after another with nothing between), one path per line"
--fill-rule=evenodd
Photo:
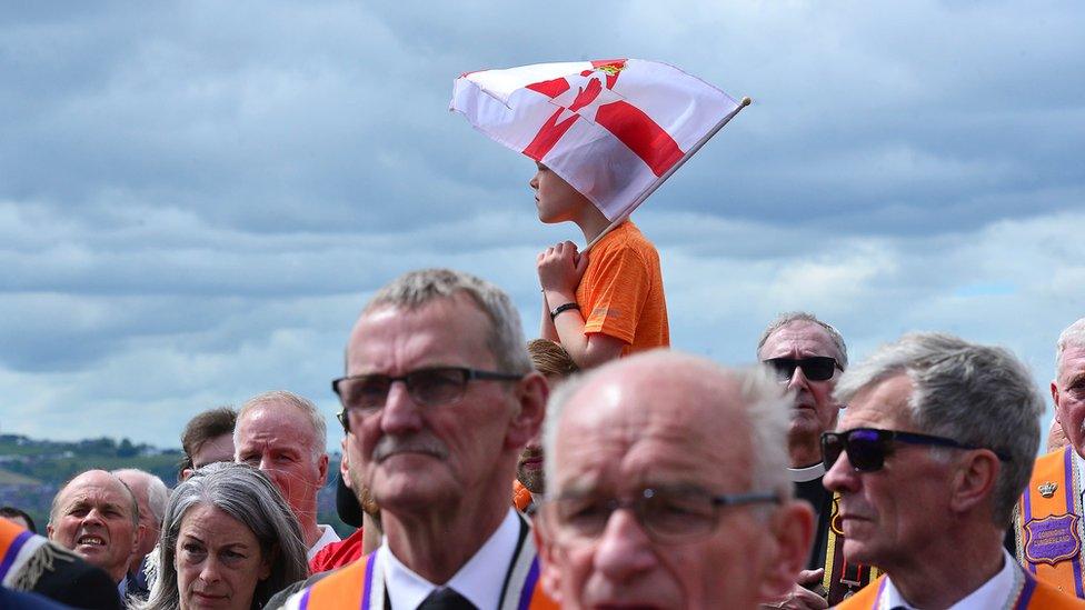
M308 576L298 521L259 470L219 462L177 486L155 551L158 578L140 610L262 608Z

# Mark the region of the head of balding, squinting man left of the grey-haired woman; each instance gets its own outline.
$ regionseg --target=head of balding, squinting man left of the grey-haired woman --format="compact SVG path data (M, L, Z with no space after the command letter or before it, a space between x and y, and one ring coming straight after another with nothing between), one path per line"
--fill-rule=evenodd
M136 497L104 470L88 470L53 498L46 526L49 539L109 574L126 590L128 561L139 549L143 526Z

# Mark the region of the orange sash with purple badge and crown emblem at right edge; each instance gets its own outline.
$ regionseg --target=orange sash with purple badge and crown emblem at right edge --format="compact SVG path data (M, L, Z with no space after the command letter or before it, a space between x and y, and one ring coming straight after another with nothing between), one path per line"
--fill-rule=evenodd
M1085 598L1082 588L1082 493L1074 450L1036 459L1032 480L1017 502L1014 526L1017 561L1043 582Z

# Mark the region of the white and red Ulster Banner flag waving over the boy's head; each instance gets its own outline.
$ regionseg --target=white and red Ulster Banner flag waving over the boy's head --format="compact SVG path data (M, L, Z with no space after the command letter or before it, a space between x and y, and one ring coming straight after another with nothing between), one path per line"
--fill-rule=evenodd
M615 59L468 72L449 110L620 221L747 103L673 66Z

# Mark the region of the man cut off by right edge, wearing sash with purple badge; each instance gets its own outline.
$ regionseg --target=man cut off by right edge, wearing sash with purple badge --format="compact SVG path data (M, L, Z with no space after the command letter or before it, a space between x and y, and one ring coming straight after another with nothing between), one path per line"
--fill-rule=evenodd
M1051 392L1055 419L1068 444L1036 460L1015 516L1017 558L1036 578L1085 598L1081 484L1085 473L1085 318L1058 336Z

